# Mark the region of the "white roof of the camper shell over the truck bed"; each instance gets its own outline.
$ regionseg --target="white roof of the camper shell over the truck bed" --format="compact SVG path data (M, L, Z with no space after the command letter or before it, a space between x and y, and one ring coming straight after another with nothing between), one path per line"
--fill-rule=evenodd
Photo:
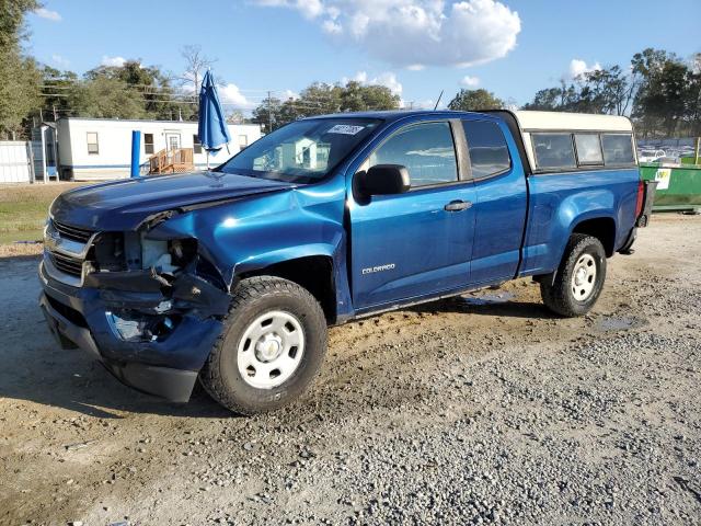
M524 132L572 130L572 132L629 132L633 125L628 117L619 115L591 115L565 112L514 112Z

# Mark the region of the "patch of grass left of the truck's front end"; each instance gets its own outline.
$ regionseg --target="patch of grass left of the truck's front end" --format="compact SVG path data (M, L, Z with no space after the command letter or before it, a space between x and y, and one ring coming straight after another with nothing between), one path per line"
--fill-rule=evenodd
M84 185L54 183L0 186L0 245L41 240L51 202L62 192Z

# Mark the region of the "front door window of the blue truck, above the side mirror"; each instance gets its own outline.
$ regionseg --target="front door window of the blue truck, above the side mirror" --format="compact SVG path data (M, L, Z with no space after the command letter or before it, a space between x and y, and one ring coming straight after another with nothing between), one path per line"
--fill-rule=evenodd
M406 167L412 187L457 181L450 124L418 124L398 132L370 155L368 168L376 164Z

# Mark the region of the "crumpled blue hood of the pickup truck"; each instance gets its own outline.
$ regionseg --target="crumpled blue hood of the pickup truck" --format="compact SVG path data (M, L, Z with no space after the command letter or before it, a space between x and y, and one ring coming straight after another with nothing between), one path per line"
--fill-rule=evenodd
M65 192L51 205L50 215L59 222L91 230L133 230L160 211L294 186L221 172L139 178Z

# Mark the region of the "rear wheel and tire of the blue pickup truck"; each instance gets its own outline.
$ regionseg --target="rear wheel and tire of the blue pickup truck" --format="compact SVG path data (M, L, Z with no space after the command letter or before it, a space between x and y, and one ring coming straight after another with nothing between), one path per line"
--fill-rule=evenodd
M574 233L567 242L554 281L540 282L545 307L556 315L586 315L596 304L606 281L606 251L601 241Z

